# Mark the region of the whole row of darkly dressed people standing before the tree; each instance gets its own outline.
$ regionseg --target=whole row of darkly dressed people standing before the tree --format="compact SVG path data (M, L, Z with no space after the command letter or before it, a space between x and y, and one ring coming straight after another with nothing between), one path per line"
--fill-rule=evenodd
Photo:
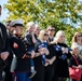
M82 69L82 32L73 35L71 49L63 30L54 33L55 27L41 30L33 22L25 32L22 19L0 23L0 81L77 81L69 67Z

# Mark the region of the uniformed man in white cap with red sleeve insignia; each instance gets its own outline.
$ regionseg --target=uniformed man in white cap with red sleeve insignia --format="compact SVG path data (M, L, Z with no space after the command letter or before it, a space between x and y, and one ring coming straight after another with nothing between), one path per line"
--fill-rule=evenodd
M35 56L35 52L28 53L28 44L22 37L23 22L19 19L13 22L15 27L15 36L10 39L11 48L16 55L15 78L16 81L31 81L28 78L30 71L30 58Z

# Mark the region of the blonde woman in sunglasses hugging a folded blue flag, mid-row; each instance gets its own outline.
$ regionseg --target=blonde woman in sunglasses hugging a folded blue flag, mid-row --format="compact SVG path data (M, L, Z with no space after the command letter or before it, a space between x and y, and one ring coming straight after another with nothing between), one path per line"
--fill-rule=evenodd
M38 36L39 38L37 38L35 51L39 52L40 55L33 58L37 73L32 78L32 81L44 81L45 56L49 55L49 50L46 48L47 33L45 32L45 30L41 30Z

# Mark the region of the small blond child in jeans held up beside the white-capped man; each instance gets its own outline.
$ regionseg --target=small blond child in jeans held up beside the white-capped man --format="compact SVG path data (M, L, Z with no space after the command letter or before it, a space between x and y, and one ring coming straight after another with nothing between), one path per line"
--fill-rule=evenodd
M28 44L28 52L32 52L35 50L35 43L37 42L33 30L35 30L35 23L29 22L27 24L27 31L25 33L25 41ZM30 75L29 75L29 78L32 78L36 73L37 73L37 71L35 70L33 59L30 58Z

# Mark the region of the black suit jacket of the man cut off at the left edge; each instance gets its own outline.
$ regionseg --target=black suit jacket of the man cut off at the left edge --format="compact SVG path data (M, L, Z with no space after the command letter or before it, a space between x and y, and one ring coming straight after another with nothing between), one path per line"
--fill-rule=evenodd
M0 53L5 51L10 52L6 28L0 23ZM0 58L0 65L4 66L5 62Z

